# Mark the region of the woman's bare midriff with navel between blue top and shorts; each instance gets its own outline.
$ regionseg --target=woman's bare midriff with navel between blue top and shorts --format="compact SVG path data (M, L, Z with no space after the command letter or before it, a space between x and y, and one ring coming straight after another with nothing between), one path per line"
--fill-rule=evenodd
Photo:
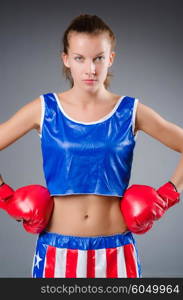
M121 197L95 194L54 196L48 232L72 236L100 236L124 233L127 226Z

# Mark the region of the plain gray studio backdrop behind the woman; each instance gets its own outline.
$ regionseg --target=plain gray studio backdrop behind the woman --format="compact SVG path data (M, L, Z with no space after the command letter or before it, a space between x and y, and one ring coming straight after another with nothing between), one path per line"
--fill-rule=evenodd
M183 127L181 1L2 1L0 122L42 93L69 88L60 40L71 19L97 14L117 38L111 91L134 96ZM130 184L155 188L173 174L180 153L139 132ZM14 188L45 185L40 140L31 131L0 154L0 172ZM143 277L182 277L182 203L145 235L135 235ZM0 277L30 277L37 235L0 211Z

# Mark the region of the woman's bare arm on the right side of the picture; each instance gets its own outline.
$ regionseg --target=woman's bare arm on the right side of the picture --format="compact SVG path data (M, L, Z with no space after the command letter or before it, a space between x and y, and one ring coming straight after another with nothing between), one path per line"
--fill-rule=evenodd
M180 162L170 178L180 193L183 190L183 129L165 120L153 109L140 102L137 106L136 128L182 154Z

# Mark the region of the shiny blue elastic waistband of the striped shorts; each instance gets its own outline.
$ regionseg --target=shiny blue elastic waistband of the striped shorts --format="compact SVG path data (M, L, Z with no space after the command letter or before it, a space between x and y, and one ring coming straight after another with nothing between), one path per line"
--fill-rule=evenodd
M130 231L104 236L71 236L43 231L38 237L38 244L67 249L104 249L116 248L126 244L135 244Z

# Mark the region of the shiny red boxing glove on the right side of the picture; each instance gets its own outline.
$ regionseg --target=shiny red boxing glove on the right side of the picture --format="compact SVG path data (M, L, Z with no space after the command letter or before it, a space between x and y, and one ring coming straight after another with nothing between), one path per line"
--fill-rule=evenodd
M171 182L167 182L157 191L147 185L132 185L120 202L121 212L130 231L137 234L147 232L155 220L180 201L180 194Z

